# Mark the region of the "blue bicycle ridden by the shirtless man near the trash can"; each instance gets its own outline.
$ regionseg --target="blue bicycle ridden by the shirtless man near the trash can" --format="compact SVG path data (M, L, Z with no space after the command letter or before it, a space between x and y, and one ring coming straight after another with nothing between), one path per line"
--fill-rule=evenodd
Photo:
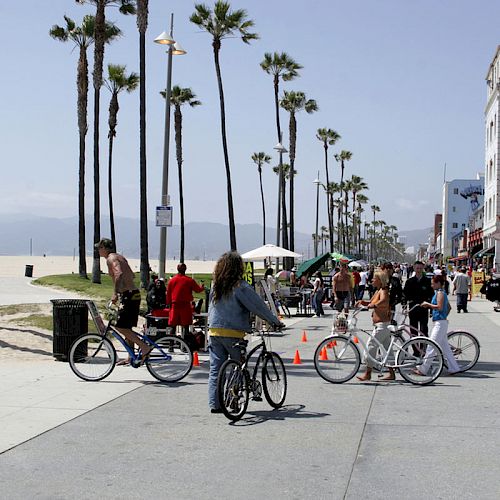
M142 366L142 352L130 347L123 336L116 330L113 322L116 321L117 309L108 305L110 319L104 325L101 315L93 301L87 301L98 333L86 333L78 337L72 344L69 352L69 364L73 373L86 381L96 382L108 377L114 370L117 354L112 339L117 340L130 356L130 366ZM136 332L137 333L137 332ZM186 342L180 337L166 335L151 340L147 332L137 333L139 338L153 347L146 357L144 364L149 373L160 382L178 382L182 380L193 366L193 354Z

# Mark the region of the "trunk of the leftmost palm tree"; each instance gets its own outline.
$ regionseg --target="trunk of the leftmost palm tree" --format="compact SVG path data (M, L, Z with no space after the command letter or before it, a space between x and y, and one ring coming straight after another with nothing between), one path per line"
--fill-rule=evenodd
M87 103L88 103L88 61L87 50L80 47L77 70L78 88L78 274L87 279L87 259L85 249L85 137L87 135Z

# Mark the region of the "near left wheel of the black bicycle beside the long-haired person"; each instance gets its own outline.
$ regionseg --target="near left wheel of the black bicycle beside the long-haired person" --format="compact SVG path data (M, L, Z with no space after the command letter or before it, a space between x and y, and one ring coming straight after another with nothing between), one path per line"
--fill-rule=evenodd
M250 393L248 374L240 363L233 359L224 361L217 377L217 396L222 413L233 422L247 411Z

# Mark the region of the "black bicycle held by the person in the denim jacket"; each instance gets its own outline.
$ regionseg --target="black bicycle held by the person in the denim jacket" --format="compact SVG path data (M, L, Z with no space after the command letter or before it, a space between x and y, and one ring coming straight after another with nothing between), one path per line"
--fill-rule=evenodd
M217 377L217 394L222 413L233 422L240 420L248 408L250 393L254 401L262 401L262 392L273 408L280 408L285 402L287 391L286 370L283 360L276 352L267 348L264 331L259 332L261 341L248 354L248 341L241 340L234 344L240 349L241 361L226 360ZM252 374L249 361L252 355L261 349ZM257 380L262 364L262 383Z

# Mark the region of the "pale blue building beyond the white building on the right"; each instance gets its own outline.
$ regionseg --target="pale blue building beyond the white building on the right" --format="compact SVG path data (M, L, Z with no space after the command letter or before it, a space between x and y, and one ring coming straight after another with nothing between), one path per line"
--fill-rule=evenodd
M444 183L441 244L436 249L436 256L439 252L441 259L457 257L457 247L452 242L468 227L470 217L483 204L483 197L483 174L477 174L475 179L455 179Z

